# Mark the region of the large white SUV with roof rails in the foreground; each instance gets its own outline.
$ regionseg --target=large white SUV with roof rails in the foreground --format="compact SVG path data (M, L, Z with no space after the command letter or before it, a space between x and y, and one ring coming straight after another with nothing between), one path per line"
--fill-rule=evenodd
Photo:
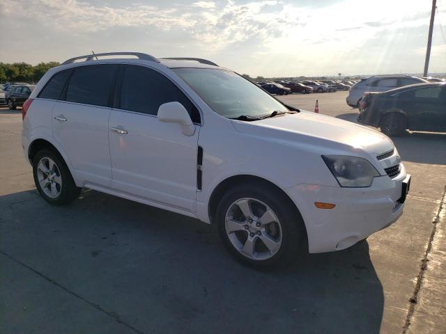
M401 216L410 175L387 136L286 106L210 61L133 55L72 58L24 104L47 202L85 187L215 223L256 267L347 248Z

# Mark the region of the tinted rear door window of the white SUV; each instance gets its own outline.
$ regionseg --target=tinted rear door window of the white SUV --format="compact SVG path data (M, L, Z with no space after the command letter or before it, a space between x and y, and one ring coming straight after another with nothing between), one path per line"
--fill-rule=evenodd
M116 66L89 65L76 67L74 71L68 83L66 100L107 106Z

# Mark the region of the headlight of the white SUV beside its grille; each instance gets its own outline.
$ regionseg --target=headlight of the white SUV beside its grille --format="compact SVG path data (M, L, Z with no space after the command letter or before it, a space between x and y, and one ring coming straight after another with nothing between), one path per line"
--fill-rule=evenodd
M366 159L346 155L323 155L322 159L340 186L371 186L374 177L380 176Z

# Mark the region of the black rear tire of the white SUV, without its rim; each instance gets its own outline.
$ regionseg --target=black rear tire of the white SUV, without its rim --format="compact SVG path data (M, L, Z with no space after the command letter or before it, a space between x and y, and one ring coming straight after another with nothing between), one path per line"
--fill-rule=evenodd
M38 164L40 160L43 158L49 158L56 164L57 169L59 170L59 176L61 177L61 186L60 193L55 198L52 198L45 193L42 186L40 186L40 182L38 180ZM49 202L52 205L66 205L72 200L75 200L79 197L79 194L82 191L82 188L76 186L75 181L72 179L70 170L66 165L63 158L59 153L53 152L52 150L41 150L36 154L36 157L33 159L33 176L34 183L36 184L36 188L40 195L44 200Z

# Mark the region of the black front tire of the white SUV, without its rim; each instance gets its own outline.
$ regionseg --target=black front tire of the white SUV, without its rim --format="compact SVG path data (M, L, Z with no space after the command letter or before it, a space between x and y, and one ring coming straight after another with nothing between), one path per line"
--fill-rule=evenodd
M242 198L254 198L265 203L272 209L280 221L282 244L279 246L277 253L267 260L253 260L246 257L236 249L236 246L233 246L228 234L226 234L226 212L228 212L229 207L233 205L233 202ZM284 196L283 193L272 186L259 186L257 184L246 183L229 189L229 191L224 193L224 196L220 199L213 221L217 223L220 237L226 248L229 250L229 253L236 257L238 261L247 264L250 267L256 269L286 267L293 262L299 254L307 253L303 247L305 245L307 234L300 213L295 209L288 197ZM240 231L240 233L243 232L246 232L247 237L249 231ZM261 242L260 246L264 246L263 242Z

